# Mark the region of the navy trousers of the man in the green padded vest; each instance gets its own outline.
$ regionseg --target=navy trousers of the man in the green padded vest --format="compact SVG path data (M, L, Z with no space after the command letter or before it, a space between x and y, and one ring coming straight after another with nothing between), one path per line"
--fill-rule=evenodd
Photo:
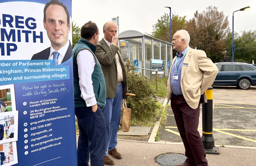
M98 106L94 113L92 107L75 108L79 128L77 161L78 166L104 166L105 120L102 108Z

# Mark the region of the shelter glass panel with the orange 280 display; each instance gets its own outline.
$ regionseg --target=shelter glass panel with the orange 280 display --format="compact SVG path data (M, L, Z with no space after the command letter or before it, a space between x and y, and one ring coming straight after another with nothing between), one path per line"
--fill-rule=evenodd
M142 60L142 38L123 39L119 42L125 62L127 59Z

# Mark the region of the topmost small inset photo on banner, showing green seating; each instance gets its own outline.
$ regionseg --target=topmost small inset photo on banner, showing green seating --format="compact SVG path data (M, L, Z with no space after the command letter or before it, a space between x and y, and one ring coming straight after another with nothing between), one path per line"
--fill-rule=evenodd
M0 113L16 111L14 84L0 86Z

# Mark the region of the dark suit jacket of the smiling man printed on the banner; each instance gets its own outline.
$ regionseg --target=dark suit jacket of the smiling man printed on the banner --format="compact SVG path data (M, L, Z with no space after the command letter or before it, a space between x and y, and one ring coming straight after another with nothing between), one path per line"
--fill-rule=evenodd
M49 56L50 56L50 47L48 47L47 49L44 49L43 51L41 51L39 53L35 53L33 55L33 57L31 58L31 60L46 60L46 59L49 59ZM67 50L61 63L64 63L71 57L72 57L72 45L69 41L68 50Z

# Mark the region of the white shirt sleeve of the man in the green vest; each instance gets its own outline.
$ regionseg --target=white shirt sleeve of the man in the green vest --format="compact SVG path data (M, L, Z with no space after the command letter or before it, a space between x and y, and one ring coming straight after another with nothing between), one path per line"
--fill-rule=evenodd
M96 59L88 49L83 49L78 52L76 62L81 97L85 100L87 107L95 105L97 104L97 101L93 92L92 73L94 71Z

